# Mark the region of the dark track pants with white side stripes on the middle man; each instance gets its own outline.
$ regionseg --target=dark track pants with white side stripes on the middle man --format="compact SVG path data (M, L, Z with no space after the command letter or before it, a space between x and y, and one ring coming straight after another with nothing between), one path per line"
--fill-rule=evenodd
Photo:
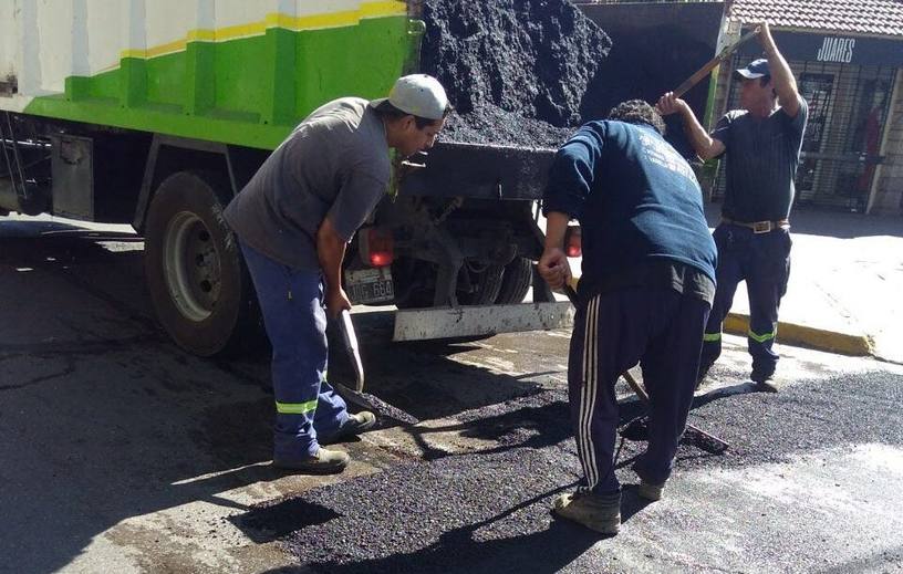
M634 466L663 483L693 401L708 303L668 289L632 289L581 303L571 337L568 388L585 487L620 491L614 476L614 384L636 365L650 395L648 447Z

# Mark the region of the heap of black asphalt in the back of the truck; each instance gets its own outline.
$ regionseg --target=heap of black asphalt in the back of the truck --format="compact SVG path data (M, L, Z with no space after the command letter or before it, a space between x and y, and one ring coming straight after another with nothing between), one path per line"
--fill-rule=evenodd
M426 0L421 67L448 92L455 142L557 147L611 40L567 0Z

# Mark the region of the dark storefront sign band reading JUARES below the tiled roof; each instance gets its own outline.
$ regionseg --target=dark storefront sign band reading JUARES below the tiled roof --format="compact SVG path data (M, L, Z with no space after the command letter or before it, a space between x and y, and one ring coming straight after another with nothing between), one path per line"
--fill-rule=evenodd
M903 67L903 39L885 40L780 31L775 31L771 35L788 60ZM743 55L750 59L760 58L761 46L756 42L749 42L743 48Z

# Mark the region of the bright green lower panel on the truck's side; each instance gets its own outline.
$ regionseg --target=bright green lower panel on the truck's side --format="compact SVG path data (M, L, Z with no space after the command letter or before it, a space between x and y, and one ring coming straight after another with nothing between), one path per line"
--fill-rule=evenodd
M413 65L419 42L406 15L354 25L224 42L190 41L155 58L126 56L65 93L25 108L60 119L263 149L276 148L311 111L335 97L380 97Z

